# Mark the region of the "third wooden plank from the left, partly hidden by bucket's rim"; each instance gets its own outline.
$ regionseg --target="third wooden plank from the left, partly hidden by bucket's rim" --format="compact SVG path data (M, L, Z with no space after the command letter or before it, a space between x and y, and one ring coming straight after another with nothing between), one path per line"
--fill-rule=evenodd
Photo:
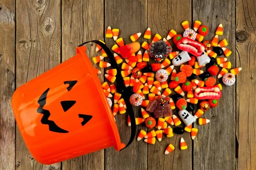
M103 40L103 11L103 0L62 0L62 62L74 56L76 47L82 42ZM96 45L90 43L86 46L88 57L99 55L95 51ZM99 68L99 65L93 66ZM103 69L101 71L99 79L103 82ZM63 161L62 169L103 170L104 150Z

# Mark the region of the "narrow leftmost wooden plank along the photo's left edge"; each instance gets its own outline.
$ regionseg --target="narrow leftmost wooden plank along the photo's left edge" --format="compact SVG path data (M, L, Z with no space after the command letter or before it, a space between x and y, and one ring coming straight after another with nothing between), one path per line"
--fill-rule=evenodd
M0 169L15 169L15 0L0 2Z

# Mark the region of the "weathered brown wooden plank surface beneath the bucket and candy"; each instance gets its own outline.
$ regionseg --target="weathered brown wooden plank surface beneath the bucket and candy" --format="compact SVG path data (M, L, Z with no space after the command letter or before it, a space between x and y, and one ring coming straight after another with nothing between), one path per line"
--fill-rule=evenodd
M0 169L256 169L255 4L255 0L2 0ZM187 150L180 151L181 135L175 135L172 138L164 136L162 142L155 145L134 141L122 152L108 148L52 165L42 165L32 158L15 128L10 105L15 88L72 57L76 54L76 46L82 42L105 40L111 48L116 42L105 38L108 26L119 28L119 37L130 43L131 34L144 33L148 27L152 37L155 33L166 37L170 29L181 34L184 20L189 20L190 26L195 20L207 25L211 34L204 40L212 39L216 26L223 23L224 35L219 38L227 39L227 48L233 51L228 60L232 62L232 68L243 68L236 85L223 85L218 107L202 116L211 122L206 126L194 124L198 128L196 139L191 142L189 133L182 135L188 144ZM144 40L140 37L138 42ZM95 52L95 46L87 45L89 57L100 54ZM99 75L99 79L106 81L104 74ZM134 111L136 116L141 115L138 108ZM115 118L121 140L126 143L130 137L127 115L118 114ZM147 131L144 125L137 127L140 129ZM169 143L176 149L165 156L163 152Z

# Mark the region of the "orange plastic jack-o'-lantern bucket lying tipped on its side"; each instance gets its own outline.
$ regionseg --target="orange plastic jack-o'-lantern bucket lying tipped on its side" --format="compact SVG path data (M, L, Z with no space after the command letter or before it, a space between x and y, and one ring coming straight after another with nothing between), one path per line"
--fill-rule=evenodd
M103 49L111 55L106 48ZM85 46L78 47L75 56L20 86L12 97L13 113L24 142L43 164L108 147L117 151L125 147L85 50ZM131 122L135 125L135 120Z

